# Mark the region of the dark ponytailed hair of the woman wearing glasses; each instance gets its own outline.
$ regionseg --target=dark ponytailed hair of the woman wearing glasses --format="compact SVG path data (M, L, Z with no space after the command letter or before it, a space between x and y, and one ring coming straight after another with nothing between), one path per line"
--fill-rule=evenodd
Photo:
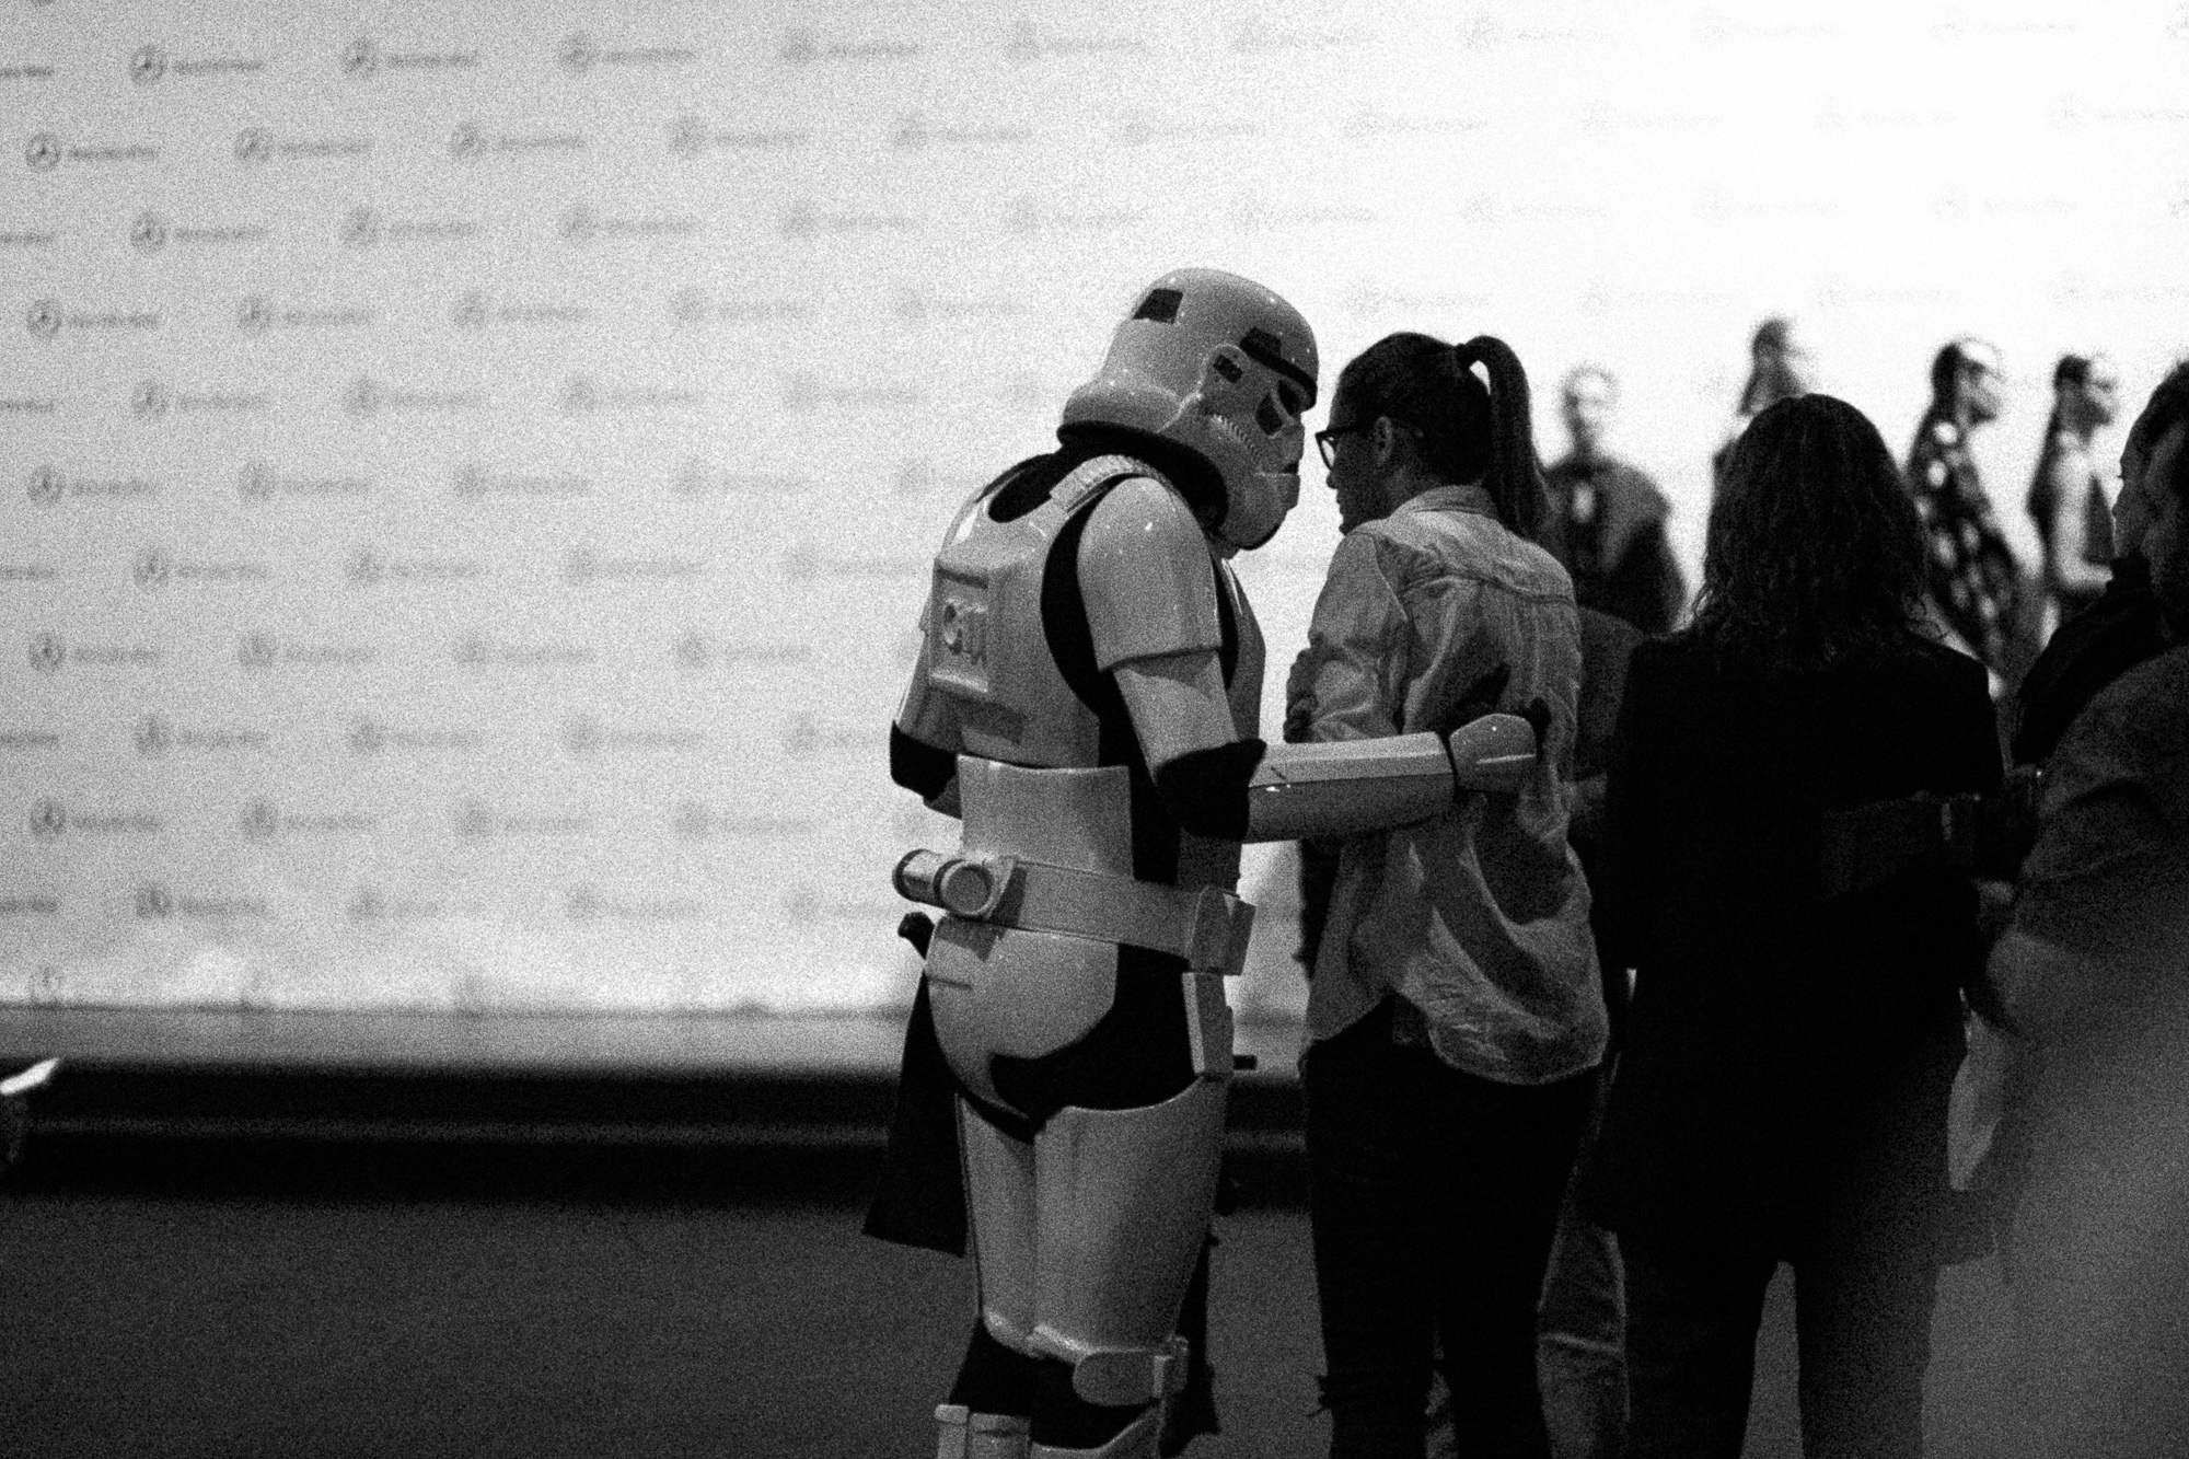
M1489 386L1473 372L1482 366ZM1421 432L1427 467L1447 482L1480 480L1497 519L1534 539L1543 521L1543 464L1528 414L1528 370L1497 335L1445 344L1383 335L1337 375L1355 421L1390 416Z

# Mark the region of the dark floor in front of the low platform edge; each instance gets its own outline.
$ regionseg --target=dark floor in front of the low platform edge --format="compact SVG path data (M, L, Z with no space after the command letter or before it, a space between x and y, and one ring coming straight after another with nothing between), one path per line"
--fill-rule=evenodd
M970 1271L860 1238L843 1161L709 1198L707 1154L293 1154L33 1148L0 1190L0 1452L933 1452ZM1189 1452L1318 1455L1305 1218L1219 1229L1226 1428ZM1999 1310L1988 1266L1948 1279L1935 1459L1990 1452ZM1797 1452L1791 1358L1775 1301L1749 1455Z

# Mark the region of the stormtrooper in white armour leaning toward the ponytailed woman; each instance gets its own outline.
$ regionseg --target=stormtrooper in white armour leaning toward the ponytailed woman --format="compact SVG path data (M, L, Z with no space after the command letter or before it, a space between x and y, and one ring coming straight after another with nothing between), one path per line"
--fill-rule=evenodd
M959 508L891 776L957 815L897 889L943 911L924 999L957 1089L981 1317L939 1459L1151 1459L1232 1076L1239 843L1427 819L1515 789L1537 727L1256 736L1263 642L1230 567L1298 502L1316 342L1215 269L1158 278L1062 449Z

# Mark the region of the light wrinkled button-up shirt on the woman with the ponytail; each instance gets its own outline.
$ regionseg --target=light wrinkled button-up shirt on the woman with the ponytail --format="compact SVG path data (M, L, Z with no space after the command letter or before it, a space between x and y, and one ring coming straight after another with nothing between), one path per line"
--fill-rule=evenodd
M1482 486L1438 486L1348 532L1287 686L1287 740L1449 730L1499 664L1497 701L1541 697L1550 734L1519 795L1469 793L1432 822L1348 837L1307 999L1309 1041L1397 992L1467 1073L1545 1084L1596 1065L1607 1019L1589 885L1565 843L1580 692L1574 589L1506 530Z

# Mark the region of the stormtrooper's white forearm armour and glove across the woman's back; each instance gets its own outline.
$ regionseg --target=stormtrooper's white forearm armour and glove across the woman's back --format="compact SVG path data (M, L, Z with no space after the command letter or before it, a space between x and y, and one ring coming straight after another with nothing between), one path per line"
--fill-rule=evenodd
M1513 793L1534 771L1534 725L1484 714L1449 738L1270 745L1248 780L1248 841L1342 837L1425 822L1460 791Z

